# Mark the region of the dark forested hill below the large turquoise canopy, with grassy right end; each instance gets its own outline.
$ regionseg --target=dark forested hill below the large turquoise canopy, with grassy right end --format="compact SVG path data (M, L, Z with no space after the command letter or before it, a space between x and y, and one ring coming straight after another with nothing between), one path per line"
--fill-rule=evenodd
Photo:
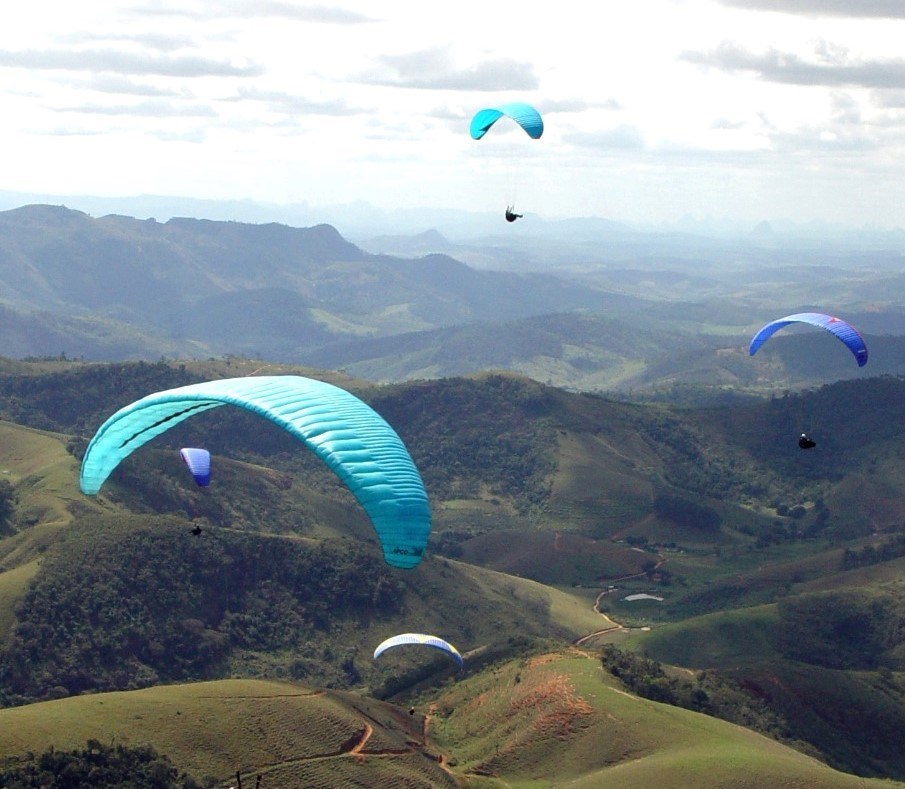
M563 592L442 558L392 572L366 543L194 537L187 522L159 516L75 521L27 588L12 573L9 593L24 594L0 655L8 703L234 674L395 692L423 665L418 655L372 660L395 633L505 654L601 620Z

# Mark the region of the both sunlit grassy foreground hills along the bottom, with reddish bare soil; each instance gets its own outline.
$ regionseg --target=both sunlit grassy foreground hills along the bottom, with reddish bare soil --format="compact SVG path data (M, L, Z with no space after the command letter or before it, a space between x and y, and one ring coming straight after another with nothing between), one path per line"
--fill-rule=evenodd
M0 710L0 751L147 743L196 780L265 787L895 785L641 699L577 651L494 664L415 709L296 683L169 685Z

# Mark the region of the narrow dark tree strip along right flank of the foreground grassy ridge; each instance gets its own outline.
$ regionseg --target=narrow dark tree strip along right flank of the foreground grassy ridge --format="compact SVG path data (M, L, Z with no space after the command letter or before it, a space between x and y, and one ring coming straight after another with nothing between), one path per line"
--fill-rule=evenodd
M780 740L788 740L785 721L761 699L715 671L693 677L669 676L656 660L608 644L601 653L603 667L633 693L674 707L703 712L746 726Z

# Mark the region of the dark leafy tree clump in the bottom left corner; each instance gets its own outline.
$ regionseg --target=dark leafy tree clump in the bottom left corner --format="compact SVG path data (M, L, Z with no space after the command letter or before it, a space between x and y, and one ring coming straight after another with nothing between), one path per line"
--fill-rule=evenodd
M84 748L8 757L0 762L0 786L5 789L80 789L129 786L134 789L202 789L149 745L134 748L88 740Z

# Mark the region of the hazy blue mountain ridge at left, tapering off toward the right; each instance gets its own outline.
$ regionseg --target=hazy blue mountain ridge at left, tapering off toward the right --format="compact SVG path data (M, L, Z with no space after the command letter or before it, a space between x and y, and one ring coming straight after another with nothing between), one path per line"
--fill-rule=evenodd
M0 214L0 299L7 336L18 337L3 353L51 353L47 342L68 337L68 353L110 358L137 332L147 335L145 355L181 346L187 355L294 361L353 337L625 301L549 275L477 271L445 255L366 253L329 225L94 219L53 206ZM46 336L35 322L48 326ZM122 327L120 336L98 336L104 324ZM141 354L134 345L131 354Z

